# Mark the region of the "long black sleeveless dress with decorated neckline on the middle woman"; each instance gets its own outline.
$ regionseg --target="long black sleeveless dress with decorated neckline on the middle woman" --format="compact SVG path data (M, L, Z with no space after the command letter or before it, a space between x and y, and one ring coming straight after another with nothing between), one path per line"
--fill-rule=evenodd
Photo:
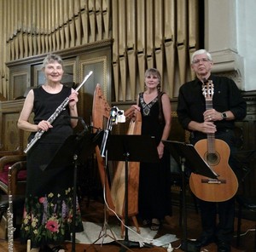
M165 127L160 122L158 97L150 103L139 94L139 106L142 112L142 135L154 136L158 146ZM139 216L143 220L153 218L162 220L171 213L171 167L170 153L165 149L159 163L141 163L139 176Z

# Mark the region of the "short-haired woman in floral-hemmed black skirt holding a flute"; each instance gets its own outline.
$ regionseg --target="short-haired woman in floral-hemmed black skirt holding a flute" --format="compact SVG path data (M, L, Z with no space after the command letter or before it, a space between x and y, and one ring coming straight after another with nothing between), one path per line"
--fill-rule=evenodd
M65 116L78 116L78 93L61 84L64 70L60 56L47 55L43 72L44 85L27 94L18 120L20 129L32 132L28 141L38 130L44 130L41 138L27 152L26 200L20 238L22 242L31 240L31 251L39 251L47 245L51 251L63 252L65 249L60 245L70 239L72 232L73 167L63 166L61 160L60 165L52 169L47 169L47 166L67 137L73 135L77 120ZM52 124L49 123L49 117L67 97L66 109ZM32 112L34 123L29 121ZM83 231L78 204L76 230Z

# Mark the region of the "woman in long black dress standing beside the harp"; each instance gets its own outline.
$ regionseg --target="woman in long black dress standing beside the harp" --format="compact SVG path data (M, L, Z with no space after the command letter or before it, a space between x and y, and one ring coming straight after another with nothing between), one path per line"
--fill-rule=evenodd
M137 97L137 110L142 113L142 135L154 136L159 163L141 163L139 180L139 216L144 225L158 230L160 221L170 215L171 168L170 153L161 140L171 130L171 102L160 92L160 72L150 68L145 73L145 91Z

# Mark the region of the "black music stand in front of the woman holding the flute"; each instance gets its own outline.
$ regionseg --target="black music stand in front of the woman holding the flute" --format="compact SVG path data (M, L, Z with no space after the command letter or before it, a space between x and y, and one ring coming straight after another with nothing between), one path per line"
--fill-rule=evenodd
M75 252L75 218L76 218L76 197L77 197L77 170L78 164L83 163L95 150L101 140L102 131L91 134L83 131L82 134L70 135L62 146L55 152L54 158L49 162L46 169L55 169L55 166L73 165L73 233L72 251Z

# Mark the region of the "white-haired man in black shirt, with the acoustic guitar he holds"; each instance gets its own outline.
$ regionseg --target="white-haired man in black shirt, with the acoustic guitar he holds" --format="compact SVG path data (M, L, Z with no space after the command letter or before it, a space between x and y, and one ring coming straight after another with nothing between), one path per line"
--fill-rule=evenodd
M191 68L196 78L179 89L177 116L183 129L190 131L191 144L219 175L218 180L190 175L189 185L201 208L202 233L195 245L201 248L215 242L218 252L229 252L238 186L232 170L232 155L236 152L233 129L235 120L246 116L247 104L236 83L212 75L212 66L212 56L205 49L192 55Z

